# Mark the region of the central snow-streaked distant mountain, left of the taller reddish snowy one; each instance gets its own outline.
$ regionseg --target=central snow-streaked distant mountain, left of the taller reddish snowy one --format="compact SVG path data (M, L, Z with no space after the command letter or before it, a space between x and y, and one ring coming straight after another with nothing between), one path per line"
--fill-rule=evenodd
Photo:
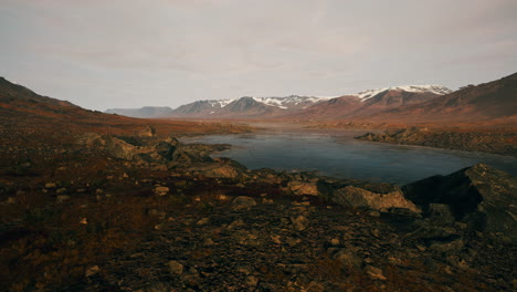
M307 108L326 97L291 95L285 97L243 96L236 100L198 101L172 111L172 117L263 118L283 116Z

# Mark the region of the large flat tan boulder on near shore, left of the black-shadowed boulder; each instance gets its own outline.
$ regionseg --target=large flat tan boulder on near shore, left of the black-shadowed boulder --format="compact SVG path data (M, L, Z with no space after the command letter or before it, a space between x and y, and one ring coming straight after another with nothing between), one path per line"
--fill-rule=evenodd
M352 208L369 208L380 210L382 208L405 208L414 212L420 209L404 198L402 191L397 187L384 194L373 192L363 188L347 186L334 191L331 201Z

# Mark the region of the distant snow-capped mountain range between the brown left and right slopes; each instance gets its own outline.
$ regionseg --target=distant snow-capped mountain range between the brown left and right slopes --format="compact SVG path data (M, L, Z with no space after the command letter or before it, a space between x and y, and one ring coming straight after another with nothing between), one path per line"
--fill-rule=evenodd
M106 113L133 117L328 119L415 104L451 92L439 85L411 85L369 90L334 98L299 95L243 96L236 100L197 101L176 109L169 107L112 108Z

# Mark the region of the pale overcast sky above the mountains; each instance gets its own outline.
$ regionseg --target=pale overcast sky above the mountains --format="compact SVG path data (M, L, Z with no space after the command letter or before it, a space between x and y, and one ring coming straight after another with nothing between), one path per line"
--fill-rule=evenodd
M0 76L82 107L517 72L516 0L0 0Z

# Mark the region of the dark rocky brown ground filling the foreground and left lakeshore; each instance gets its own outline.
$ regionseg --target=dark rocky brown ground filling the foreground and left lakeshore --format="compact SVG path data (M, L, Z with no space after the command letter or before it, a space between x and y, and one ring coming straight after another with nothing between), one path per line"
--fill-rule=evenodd
M219 123L85 111L0 80L1 291L511 291L517 179L249 170Z

